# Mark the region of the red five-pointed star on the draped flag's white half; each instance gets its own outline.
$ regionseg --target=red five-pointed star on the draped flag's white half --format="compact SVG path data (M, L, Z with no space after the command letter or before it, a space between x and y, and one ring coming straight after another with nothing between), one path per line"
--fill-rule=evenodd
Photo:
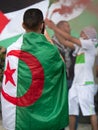
M14 79L12 77L13 73L16 71L16 69L11 69L10 68L10 65L9 65L9 61L7 63L7 68L6 70L4 71L4 75L6 76L6 79L5 79L5 84L10 81L14 86L15 85L15 82L14 82Z

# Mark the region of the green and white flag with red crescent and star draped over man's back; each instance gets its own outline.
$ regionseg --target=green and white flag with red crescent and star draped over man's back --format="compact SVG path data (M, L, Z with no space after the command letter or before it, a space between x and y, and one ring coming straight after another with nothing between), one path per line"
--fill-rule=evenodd
M8 130L60 130L68 125L65 64L43 34L26 33L8 47L1 99Z

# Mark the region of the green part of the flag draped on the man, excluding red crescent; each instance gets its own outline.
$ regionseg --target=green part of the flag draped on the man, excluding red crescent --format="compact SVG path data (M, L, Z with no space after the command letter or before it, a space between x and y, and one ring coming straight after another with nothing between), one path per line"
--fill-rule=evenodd
M60 130L66 127L69 122L68 90L65 65L57 48L44 35L27 33L21 49L35 56L43 66L44 88L35 103L27 107L17 106L15 130ZM29 88L30 73L27 65L19 61L18 96Z

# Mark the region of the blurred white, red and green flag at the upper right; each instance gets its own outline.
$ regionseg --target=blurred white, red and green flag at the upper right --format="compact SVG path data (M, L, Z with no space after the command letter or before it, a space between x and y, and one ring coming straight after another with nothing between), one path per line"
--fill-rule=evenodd
M71 27L71 34L80 36L86 26L94 26L98 32L98 0L51 0L47 17L55 23L66 20ZM62 6L61 6L62 4ZM52 36L54 33L48 29Z

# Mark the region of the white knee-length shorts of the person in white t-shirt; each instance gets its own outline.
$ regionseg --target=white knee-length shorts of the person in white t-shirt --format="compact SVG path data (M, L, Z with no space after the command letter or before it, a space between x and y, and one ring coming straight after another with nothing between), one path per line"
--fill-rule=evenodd
M79 106L83 116L95 114L94 85L73 84L69 90L69 115L79 115Z

